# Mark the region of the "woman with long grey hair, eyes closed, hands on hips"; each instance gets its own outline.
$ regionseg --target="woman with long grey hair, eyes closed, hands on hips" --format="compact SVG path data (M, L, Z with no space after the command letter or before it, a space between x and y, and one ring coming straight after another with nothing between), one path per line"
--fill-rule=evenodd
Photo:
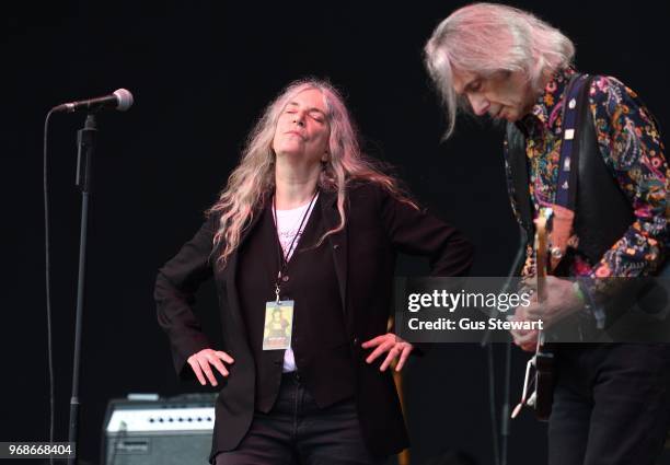
M177 372L221 386L212 463L371 464L407 446L386 371L414 349L386 333L397 252L428 256L438 276L465 274L472 256L361 153L335 89L289 85L157 279ZM192 309L211 277L221 348Z

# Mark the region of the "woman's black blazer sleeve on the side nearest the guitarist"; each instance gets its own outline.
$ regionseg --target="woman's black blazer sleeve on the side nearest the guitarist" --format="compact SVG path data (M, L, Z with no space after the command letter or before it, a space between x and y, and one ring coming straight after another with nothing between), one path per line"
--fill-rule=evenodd
M398 252L427 256L431 276L467 275L474 247L460 231L384 189L379 193L382 223Z

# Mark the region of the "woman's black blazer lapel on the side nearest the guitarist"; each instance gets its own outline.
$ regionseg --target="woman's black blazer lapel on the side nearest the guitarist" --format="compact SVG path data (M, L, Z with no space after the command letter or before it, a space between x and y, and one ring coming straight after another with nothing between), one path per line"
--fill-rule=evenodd
M339 211L337 211L337 193L324 191L321 194L321 208L323 214L323 223L325 230L330 231L337 228L339 224ZM343 231L335 234L331 234L326 237L326 241L333 253L333 261L335 263L335 275L337 276L337 284L339 288L339 298L342 299L342 310L346 314L347 312L347 256L348 256L348 243L347 243L347 226Z

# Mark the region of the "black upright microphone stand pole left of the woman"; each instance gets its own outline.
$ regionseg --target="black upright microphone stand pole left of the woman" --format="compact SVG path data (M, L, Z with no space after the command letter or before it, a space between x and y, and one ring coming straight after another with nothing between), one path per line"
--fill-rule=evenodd
M79 432L79 372L81 361L81 329L84 305L84 283L86 269L86 234L89 224L89 196L91 194L93 174L93 154L97 124L95 115L86 115L84 127L77 131L77 182L81 191L81 226L79 236L79 277L77 282L77 317L74 324L74 359L72 362L72 396L70 398L70 426L68 441L73 443L74 456L68 458L68 465L76 465L77 439Z

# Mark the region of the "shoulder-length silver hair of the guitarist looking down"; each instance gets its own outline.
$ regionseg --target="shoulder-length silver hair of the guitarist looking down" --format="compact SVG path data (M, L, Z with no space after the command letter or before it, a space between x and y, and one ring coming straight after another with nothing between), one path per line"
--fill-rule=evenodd
M463 107L453 89L453 70L488 78L522 71L541 91L543 75L566 68L575 46L561 31L525 11L496 3L473 3L451 13L424 48L425 63L447 108L444 138L453 133Z

